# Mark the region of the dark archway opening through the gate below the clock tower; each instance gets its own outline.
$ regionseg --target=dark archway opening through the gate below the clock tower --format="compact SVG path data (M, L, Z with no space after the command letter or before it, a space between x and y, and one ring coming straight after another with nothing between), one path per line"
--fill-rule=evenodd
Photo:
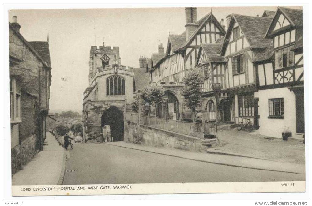
M101 121L102 128L105 125L110 125L110 134L114 142L124 140L124 114L121 110L116 106L111 106L104 111Z

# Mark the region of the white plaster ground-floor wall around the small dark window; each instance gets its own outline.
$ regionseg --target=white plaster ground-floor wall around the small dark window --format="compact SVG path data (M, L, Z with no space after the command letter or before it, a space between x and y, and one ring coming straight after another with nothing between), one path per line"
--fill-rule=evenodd
M295 94L287 88L260 90L259 94L259 133L261 135L282 138L284 127L292 135L296 134L296 99ZM284 98L284 119L269 119L269 100Z

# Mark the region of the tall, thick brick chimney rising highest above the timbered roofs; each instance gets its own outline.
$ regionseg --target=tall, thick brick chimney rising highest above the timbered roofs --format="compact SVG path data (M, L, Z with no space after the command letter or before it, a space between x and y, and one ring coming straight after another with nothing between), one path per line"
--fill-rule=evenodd
M186 7L185 8L185 35L186 40L193 34L197 29L197 12L196 7Z

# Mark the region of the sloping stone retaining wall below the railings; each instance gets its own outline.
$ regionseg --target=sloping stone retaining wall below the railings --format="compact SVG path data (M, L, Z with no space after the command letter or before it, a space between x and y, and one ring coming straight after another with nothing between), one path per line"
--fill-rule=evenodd
M124 141L142 145L175 148L180 150L191 150L197 152L206 151L206 146L197 137L182 135L154 127L140 125L140 133L136 123L124 122Z

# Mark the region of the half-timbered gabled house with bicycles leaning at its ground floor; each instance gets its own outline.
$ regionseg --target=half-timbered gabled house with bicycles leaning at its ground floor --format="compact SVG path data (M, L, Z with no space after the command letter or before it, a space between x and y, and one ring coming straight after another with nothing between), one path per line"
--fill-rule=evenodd
M272 17L227 16L228 29L220 52L227 61L224 70L227 97L220 108L230 108L227 115L236 124L250 120L256 129L259 127L259 115L253 60L272 42L265 38L271 21Z

